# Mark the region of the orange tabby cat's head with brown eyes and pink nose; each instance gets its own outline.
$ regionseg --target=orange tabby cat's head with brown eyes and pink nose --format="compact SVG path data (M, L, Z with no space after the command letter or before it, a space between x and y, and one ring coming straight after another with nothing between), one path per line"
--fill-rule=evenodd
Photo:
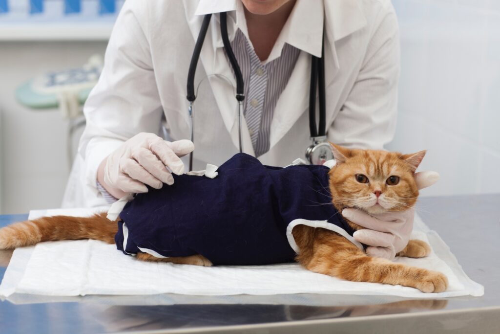
M337 209L354 207L377 214L404 211L415 204L418 188L413 174L425 151L401 154L331 146L336 165L329 183Z

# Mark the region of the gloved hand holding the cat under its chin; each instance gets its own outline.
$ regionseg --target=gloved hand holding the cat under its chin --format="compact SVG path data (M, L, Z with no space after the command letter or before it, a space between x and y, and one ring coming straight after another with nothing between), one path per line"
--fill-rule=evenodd
M418 189L429 187L439 180L439 174L436 172L418 172L414 176ZM355 231L353 237L368 245L366 248L368 255L391 260L408 243L413 230L415 209L378 215L369 215L356 209L344 209L342 216L365 227Z

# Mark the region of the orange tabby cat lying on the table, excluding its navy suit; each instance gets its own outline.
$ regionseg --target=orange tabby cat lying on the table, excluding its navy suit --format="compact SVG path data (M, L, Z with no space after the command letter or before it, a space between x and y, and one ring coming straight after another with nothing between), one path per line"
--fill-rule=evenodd
M341 212L347 207L376 214L403 211L415 204L418 196L413 173L425 151L415 154L347 149L332 145L336 165L329 172L332 203ZM376 196L374 193L377 193ZM378 200L377 200L378 197ZM361 227L349 222L357 230ZM33 245L50 240L95 239L114 243L116 222L106 214L88 218L55 216L14 223L0 229L0 249ZM370 257L339 234L305 225L292 231L300 250L296 260L308 270L350 281L400 284L423 292L441 292L447 287L446 276L439 272L410 267L389 260ZM410 240L398 255L423 257L429 246ZM211 266L202 255L157 258L138 253L137 259L178 264Z

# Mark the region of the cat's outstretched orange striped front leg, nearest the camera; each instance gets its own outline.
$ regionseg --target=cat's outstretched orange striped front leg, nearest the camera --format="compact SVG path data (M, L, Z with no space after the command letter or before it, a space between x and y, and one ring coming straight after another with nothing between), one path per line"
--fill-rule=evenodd
M422 292L442 292L448 285L440 272L368 256L344 237L326 230L316 234L310 256L299 260L311 271L350 281L403 285Z

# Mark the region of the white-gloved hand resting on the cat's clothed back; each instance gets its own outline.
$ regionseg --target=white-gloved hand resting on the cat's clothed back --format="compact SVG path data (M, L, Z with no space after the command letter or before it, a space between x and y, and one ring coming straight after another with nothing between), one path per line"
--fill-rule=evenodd
M184 173L179 159L194 150L189 140L168 142L152 133L139 133L111 153L103 163L103 186L116 198L127 193L147 192L146 184L160 189L173 184L170 173ZM170 170L167 170L167 168Z

